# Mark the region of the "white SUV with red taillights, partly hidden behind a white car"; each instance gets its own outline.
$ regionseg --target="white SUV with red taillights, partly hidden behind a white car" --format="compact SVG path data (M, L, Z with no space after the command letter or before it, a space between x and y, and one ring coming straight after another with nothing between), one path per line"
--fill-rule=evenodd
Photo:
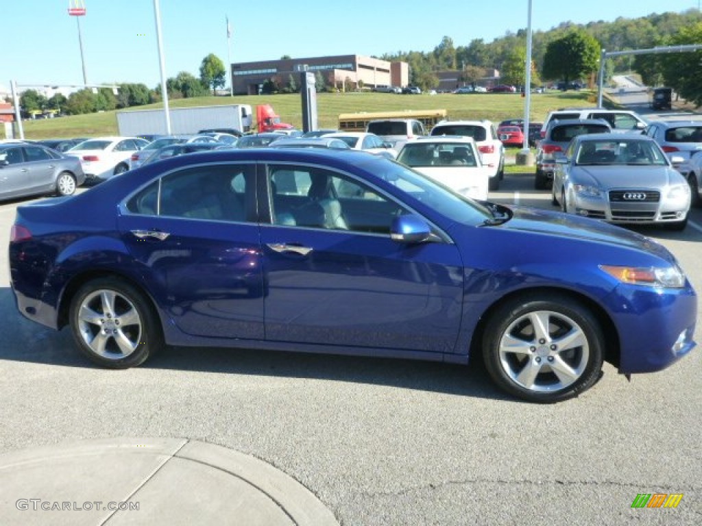
M483 166L489 168L489 188L496 190L505 177L505 147L491 121L440 121L430 135L460 135L472 137L477 144Z

